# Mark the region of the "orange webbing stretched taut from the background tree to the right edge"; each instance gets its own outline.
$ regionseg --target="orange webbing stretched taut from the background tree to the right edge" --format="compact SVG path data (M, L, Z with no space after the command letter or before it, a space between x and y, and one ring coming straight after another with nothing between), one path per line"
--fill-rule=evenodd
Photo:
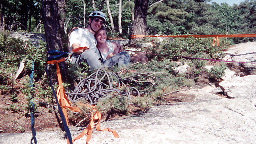
M216 35L131 35L131 38L138 37L256 37L256 34L216 34Z

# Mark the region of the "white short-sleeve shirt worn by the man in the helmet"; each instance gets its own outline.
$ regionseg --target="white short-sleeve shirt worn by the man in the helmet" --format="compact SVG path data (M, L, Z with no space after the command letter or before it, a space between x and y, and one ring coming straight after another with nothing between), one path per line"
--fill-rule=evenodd
M69 51L72 50L72 44L74 43L80 44L80 47L89 47L94 52L96 50L97 41L94 34L83 28L78 28L71 32L69 36Z

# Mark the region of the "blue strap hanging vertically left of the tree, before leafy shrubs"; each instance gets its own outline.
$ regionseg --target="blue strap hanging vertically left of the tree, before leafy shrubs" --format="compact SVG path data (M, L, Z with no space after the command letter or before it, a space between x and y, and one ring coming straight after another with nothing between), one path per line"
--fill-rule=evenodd
M30 87L33 87L34 68L35 68L35 62L33 61L33 63L32 63L32 71L31 71L31 74L30 74L30 82L29 82L29 86ZM31 94L31 95L33 95L33 94ZM36 141L36 130L35 130L35 127L34 127L34 125L35 125L35 112L34 112L35 103L32 102L31 99L32 99L32 97L30 97L30 107L29 107L29 110L30 110L30 116L31 116L31 131L32 131L33 137L30 140L30 144L33 144L33 142L32 142L33 139L34 139L34 142L36 144L37 143L37 141Z

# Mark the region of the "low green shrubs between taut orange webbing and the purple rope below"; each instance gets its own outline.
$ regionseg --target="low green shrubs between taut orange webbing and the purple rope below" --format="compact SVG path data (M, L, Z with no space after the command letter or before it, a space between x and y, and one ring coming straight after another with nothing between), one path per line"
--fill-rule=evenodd
M154 56L154 59L162 59L166 56L170 56L170 59L178 60L184 58L172 57L172 56L185 56L185 57L199 57L214 58L216 53L219 53L229 43L226 43L224 39L220 39L220 45L223 47L212 46L212 38L164 38L163 42L159 42L156 38L152 38L152 41L156 41L156 45L152 48L148 48L147 52L153 52L161 54L162 56ZM204 55L202 55L204 54ZM201 55L201 56L200 56Z

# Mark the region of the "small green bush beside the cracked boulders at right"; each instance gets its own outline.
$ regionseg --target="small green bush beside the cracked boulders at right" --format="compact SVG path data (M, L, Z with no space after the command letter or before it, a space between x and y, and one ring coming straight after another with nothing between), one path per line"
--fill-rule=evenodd
M208 77L210 80L218 80L221 76L224 75L225 69L227 68L225 63L221 63L221 65L217 65L211 68L208 72Z

